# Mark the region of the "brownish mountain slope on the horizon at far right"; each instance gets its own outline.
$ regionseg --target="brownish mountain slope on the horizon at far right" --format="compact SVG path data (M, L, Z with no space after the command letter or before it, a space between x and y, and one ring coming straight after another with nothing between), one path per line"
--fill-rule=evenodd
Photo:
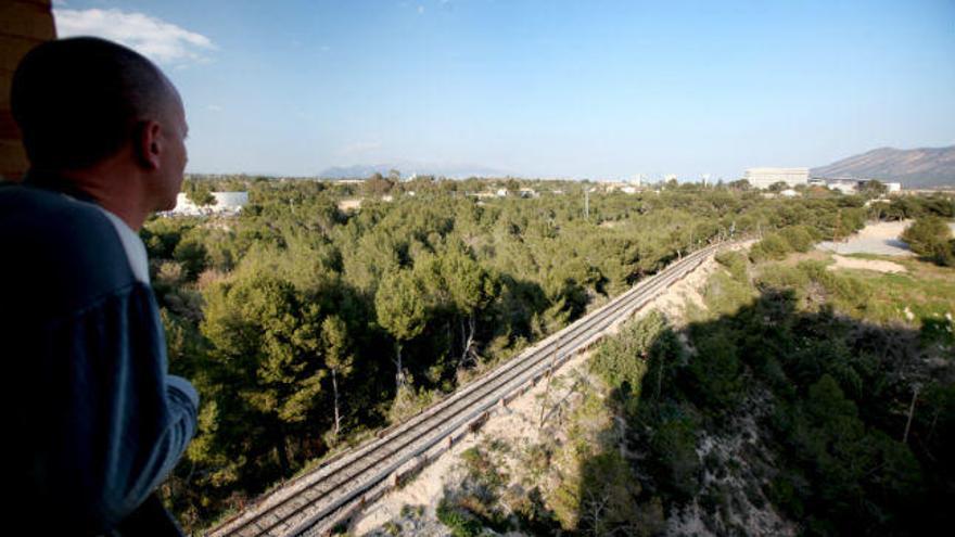
M880 148L811 170L813 177L899 181L906 188L955 186L955 145L897 150Z

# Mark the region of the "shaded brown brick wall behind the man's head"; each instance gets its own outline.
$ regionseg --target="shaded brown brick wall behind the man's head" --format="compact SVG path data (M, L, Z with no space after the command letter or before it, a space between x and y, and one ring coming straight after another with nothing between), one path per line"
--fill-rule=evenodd
M20 180L29 166L10 115L13 72L27 51L55 37L50 0L0 0L0 180Z

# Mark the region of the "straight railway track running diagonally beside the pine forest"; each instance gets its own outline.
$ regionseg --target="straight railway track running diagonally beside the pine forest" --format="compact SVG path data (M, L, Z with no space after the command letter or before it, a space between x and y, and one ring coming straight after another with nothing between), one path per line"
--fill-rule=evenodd
M254 506L213 528L209 537L323 535L372 501L402 474L428 463L487 418L496 405L529 389L571 356L583 351L724 247L714 244L671 264L515 358L462 386L379 437L265 495Z

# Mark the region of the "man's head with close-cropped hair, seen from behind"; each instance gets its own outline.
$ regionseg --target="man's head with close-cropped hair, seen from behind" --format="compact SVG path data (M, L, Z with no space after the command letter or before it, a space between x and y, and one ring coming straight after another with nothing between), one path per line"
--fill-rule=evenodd
M136 187L145 209L175 206L186 115L171 82L139 53L91 37L42 43L14 74L11 112L33 170L81 178L109 169L128 176L114 182L138 182L115 188Z

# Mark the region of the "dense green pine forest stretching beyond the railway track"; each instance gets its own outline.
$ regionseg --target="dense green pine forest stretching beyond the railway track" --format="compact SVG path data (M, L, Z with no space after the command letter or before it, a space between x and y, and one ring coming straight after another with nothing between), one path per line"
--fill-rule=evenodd
M740 184L584 191L591 187L382 177L361 184L190 181L190 196L247 190L250 204L238 217L157 217L141 233L170 369L193 380L203 399L200 433L163 487L187 528L206 527L269 485L415 413L702 244L762 239L751 255L763 261L844 238L867 218L955 215L941 196L866 204L825 190L767 197ZM533 195L521 197L521 188ZM468 195L488 190L511 195ZM340 208L349 199L360 199L360 208ZM711 344L741 346L729 335ZM776 375L767 376L773 386L795 375L786 363L766 362L734 362L726 367L735 373L724 374L717 361L697 381L667 372L665 382L726 379L725 386L708 384L713 400L700 404L700 415L718 421L746 400L740 368ZM822 382L793 379L786 407L792 415L779 419L780 434L802 423L802 395ZM814 389L835 392L829 384ZM779 491L794 513L812 504L803 489L785 490L785 483L812 477L800 477L797 466ZM683 482L671 477L660 486L678 497Z

